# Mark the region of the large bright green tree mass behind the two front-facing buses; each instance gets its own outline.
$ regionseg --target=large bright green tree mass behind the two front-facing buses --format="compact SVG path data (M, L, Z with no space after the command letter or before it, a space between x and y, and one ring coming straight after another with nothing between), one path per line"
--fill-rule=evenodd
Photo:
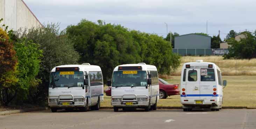
M159 73L168 74L180 61L179 56L172 54L170 42L162 37L129 31L121 25L103 25L102 21L95 24L83 19L68 26L66 32L81 55L79 62L99 65L104 81L111 78L113 68L120 64L145 62L156 65Z

